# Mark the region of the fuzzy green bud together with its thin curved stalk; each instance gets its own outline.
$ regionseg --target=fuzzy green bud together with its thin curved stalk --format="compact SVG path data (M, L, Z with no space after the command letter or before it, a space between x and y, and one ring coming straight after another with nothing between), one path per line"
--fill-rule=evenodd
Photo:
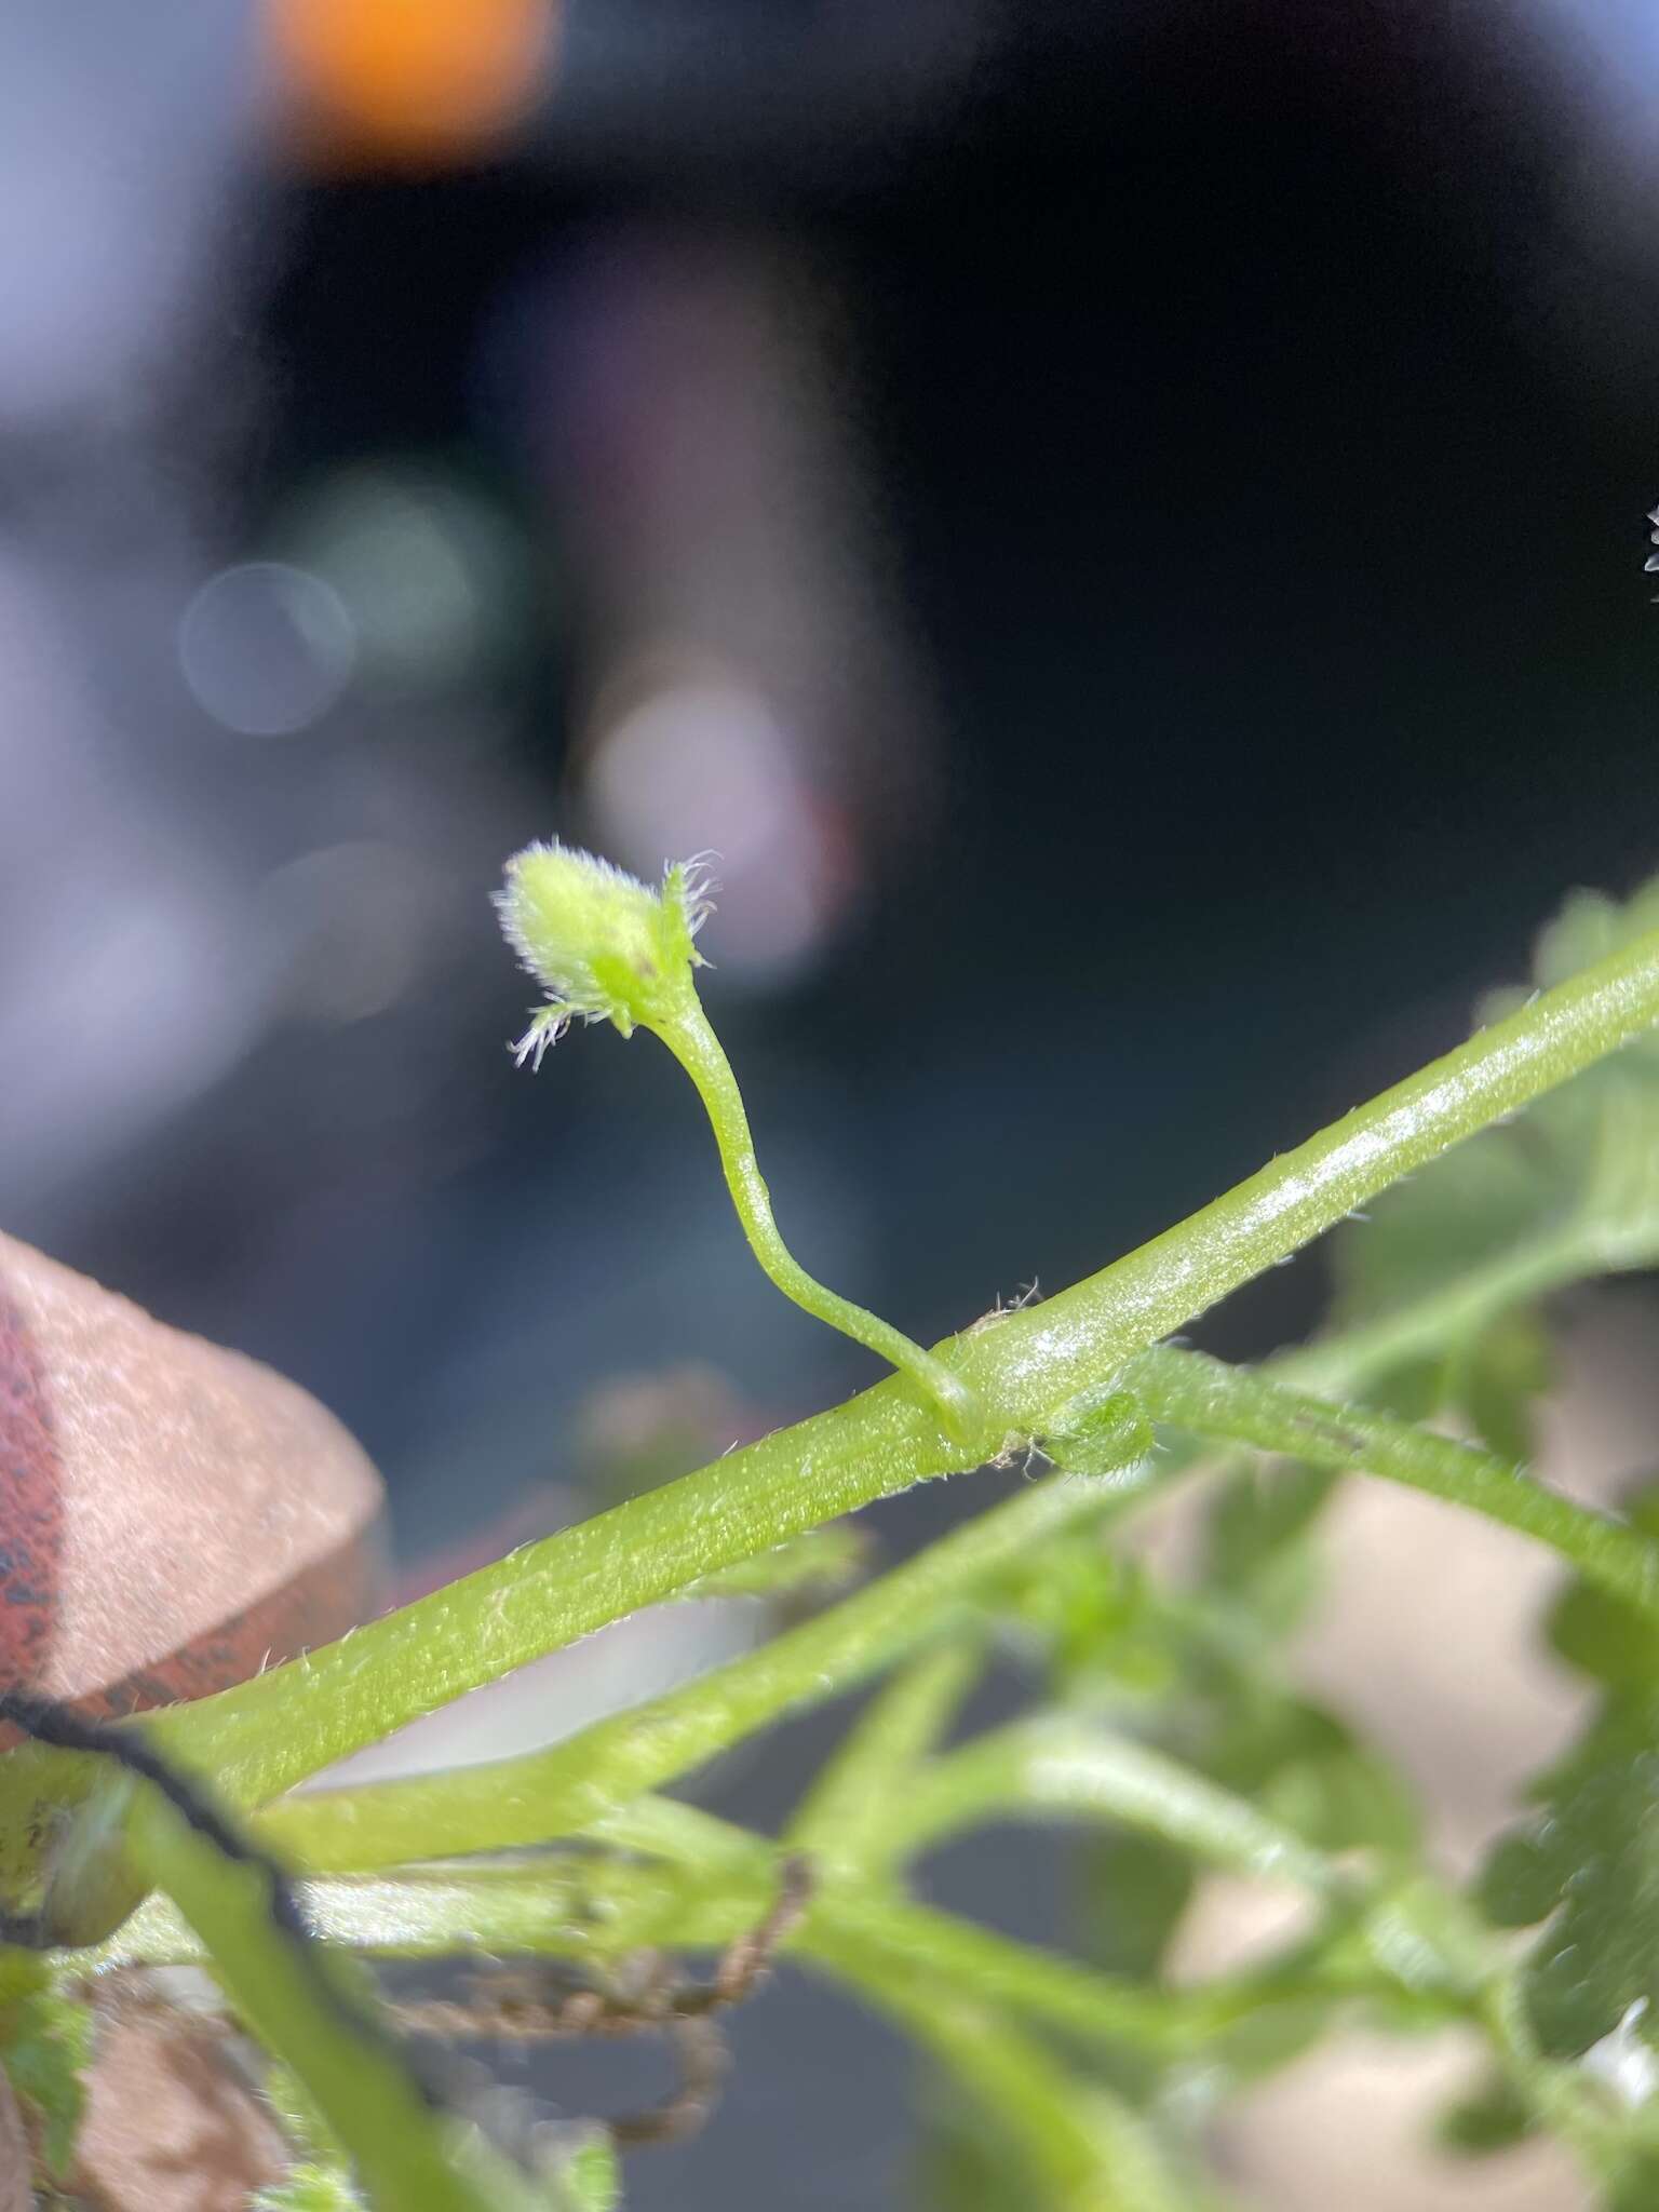
M900 1329L825 1290L779 1234L743 1093L697 998L695 969L703 967L697 931L712 911L710 889L701 858L668 867L661 889L653 891L637 876L557 838L515 854L495 909L509 945L546 991L546 1004L531 1015L513 1057L540 1068L573 1020L613 1022L624 1037L635 1029L661 1037L697 1084L737 1217L765 1274L785 1298L909 1376L945 1429L967 1444L982 1427L967 1383Z

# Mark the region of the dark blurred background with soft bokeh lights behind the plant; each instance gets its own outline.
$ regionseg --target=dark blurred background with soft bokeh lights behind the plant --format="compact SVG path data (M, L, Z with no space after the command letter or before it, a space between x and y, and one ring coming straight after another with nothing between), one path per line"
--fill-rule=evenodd
M1657 102L1621 0L7 9L0 1221L453 1559L617 1378L872 1371L650 1040L513 1071L526 838L721 854L785 1230L920 1336L1449 1044L1655 863ZM774 2002L639 2203L900 2188Z

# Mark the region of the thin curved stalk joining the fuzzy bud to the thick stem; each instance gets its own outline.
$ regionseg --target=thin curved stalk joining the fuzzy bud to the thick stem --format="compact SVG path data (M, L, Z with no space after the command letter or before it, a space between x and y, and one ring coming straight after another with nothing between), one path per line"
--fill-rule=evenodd
M918 1343L911 1343L902 1329L896 1329L863 1305L854 1305L852 1298L827 1290L816 1276L807 1274L785 1245L772 1214L772 1192L765 1188L761 1164L754 1157L754 1137L750 1135L743 1093L697 993L688 993L688 1004L681 1013L672 1020L655 1022L653 1029L697 1086L697 1095L714 1130L737 1219L743 1223L750 1250L772 1283L803 1312L814 1314L832 1329L841 1329L843 1336L852 1336L856 1345L865 1345L878 1358L887 1360L889 1367L909 1376L922 1391L922 1398L938 1409L945 1431L958 1444L978 1440L980 1449L995 1449L995 1438L980 1436L984 1427L980 1398L962 1376L953 1374L936 1352L925 1352Z

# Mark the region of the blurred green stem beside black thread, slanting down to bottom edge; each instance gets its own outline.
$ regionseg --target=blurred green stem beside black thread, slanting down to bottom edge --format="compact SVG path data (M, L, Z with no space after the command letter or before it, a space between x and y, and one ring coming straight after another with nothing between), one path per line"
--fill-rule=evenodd
M248 2026L314 2097L376 2212L531 2212L529 2188L420 2095L389 2044L365 2035L343 1966L276 1924L263 1867L226 1858L153 1790L139 1790L128 1845L215 1962ZM473 2163L473 2174L462 2170Z

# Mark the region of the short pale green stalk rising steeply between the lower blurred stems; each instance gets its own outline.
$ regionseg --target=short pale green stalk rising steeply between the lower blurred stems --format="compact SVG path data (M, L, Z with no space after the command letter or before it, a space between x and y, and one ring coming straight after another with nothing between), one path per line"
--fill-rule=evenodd
M821 1869L858 1869L869 1880L885 1807L949 1728L980 1659L978 1637L953 1637L876 1690L796 1807L787 1847Z

